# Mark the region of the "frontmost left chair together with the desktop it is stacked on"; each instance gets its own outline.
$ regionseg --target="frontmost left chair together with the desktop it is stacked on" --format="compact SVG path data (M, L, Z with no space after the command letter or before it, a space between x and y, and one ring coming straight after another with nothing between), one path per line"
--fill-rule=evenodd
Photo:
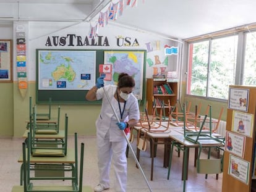
M83 186L83 152L84 152L84 144L81 143L81 150L80 150L80 167L78 163L78 146L77 146L77 133L75 133L75 153L74 155L74 162L64 162L61 159L55 161L54 159L51 162L51 158L56 157L44 157L47 158L49 162L46 163L44 158L40 162L34 163L35 157L31 155L31 148L30 148L30 133L28 133L28 145L27 149L25 143L22 143L22 174L23 174L23 186L14 186L12 188L12 192L60 192L60 191L69 191L69 192L82 192L82 191L92 191L90 186ZM38 157L41 158L41 157ZM58 157L58 158L65 158L65 157ZM45 162L44 162L45 161ZM39 166L38 168L38 165ZM51 167L49 167L51 166ZM41 169L41 167L45 167L45 170L51 171L59 171L60 169L65 172L65 175L62 177L59 176L43 176L38 177L35 174L36 169ZM54 181L54 183L49 182L47 184L47 180ZM65 182L65 184L64 184Z

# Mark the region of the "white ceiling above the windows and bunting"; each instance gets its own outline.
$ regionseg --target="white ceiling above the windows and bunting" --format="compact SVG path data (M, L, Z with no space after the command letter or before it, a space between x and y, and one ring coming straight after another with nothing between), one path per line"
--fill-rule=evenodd
M122 24L170 38L186 39L256 22L255 0L137 1L137 7L126 6L123 15L117 17L113 24ZM0 3L17 2L17 0L0 0ZM19 0L19 3L43 3L53 6L54 4L70 6L88 4L95 7L99 0ZM86 17L85 14L83 18L77 19L82 20Z

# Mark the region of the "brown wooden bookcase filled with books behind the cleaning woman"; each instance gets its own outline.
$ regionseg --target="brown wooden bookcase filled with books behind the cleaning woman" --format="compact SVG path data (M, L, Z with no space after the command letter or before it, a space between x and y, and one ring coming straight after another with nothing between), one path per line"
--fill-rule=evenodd
M171 88L171 91L168 90L167 85ZM160 103L162 103L164 104L164 114L168 116L169 106L175 106L177 102L178 82L162 78L147 78L146 88L148 114L153 114L154 106L157 112L160 112L161 107L163 107Z

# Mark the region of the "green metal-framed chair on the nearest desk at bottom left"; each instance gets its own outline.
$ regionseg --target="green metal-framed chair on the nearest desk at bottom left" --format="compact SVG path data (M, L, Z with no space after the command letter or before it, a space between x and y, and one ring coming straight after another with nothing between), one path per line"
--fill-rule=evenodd
M28 133L29 136L30 133ZM32 172L35 171L35 164L30 163L30 147L28 145L28 152L26 154L26 146L25 143L22 144L23 151L23 191L24 192L60 192L60 191L69 191L69 192L82 192L83 186L83 152L84 152L84 144L81 143L81 151L80 151L80 174L78 177L78 154L77 154L77 133L75 133L75 164L61 164L61 169L64 169L65 172L71 172L71 174L67 174L64 177L35 177ZM52 165L52 164L47 164ZM56 164L58 165L58 164ZM59 169L59 167L57 167ZM53 169L53 167L51 167ZM56 171L58 171L56 169ZM53 184L43 185L38 184L37 181L43 180L54 180ZM58 183L57 181L61 181ZM66 185L63 185L62 182L69 182ZM33 182L33 183L32 183ZM83 191L92 191L90 187L87 187L87 190Z

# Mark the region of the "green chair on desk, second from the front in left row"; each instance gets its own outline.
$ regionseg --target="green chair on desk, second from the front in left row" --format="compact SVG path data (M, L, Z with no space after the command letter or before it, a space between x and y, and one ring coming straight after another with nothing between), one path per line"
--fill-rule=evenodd
M36 111L36 106L35 106ZM34 119L36 119L36 112L34 113ZM66 156L67 154L67 129L68 129L68 117L65 114L65 133L64 139L39 139L36 138L37 134L36 123L32 123L33 128L30 128L30 137L28 141L30 143L30 152L32 156Z

